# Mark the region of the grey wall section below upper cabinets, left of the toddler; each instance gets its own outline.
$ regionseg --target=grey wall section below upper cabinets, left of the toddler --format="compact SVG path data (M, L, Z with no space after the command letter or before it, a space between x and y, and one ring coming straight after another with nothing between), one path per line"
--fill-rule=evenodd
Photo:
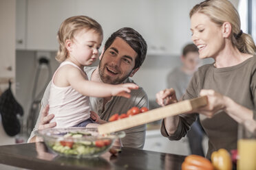
M58 67L54 56L55 52L49 51L50 53L50 66L52 73ZM49 70L45 66L39 66L39 58L36 57L36 51L17 51L17 88L16 95L17 100L23 106L24 117L26 120L30 107L32 104L32 90L34 88L34 80L36 77L36 71L40 70L39 81L36 86L36 95L42 90L44 91L45 84L48 84L48 73ZM51 74L52 77L52 74Z

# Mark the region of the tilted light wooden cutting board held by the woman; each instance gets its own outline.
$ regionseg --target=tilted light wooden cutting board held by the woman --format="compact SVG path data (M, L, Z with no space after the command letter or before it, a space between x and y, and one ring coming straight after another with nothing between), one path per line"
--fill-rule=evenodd
M152 121L158 121L164 119L165 117L174 116L177 114L182 114L206 106L207 97L198 97L195 99L180 101L176 104L170 104L161 108L156 108L136 114L132 117L127 117L124 119L119 119L117 121L111 121L98 126L98 132L100 134L108 134L111 132L118 132L120 130L125 130L131 127L142 125L145 123L150 123Z

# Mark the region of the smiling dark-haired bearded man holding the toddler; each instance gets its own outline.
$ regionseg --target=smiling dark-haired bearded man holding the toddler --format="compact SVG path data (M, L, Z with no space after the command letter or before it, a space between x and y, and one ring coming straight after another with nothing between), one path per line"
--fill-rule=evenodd
M105 49L100 55L100 63L97 67L85 67L88 80L104 82L109 84L121 84L134 82L131 78L140 69L147 54L147 43L142 36L134 29L123 27L111 34L105 42ZM49 98L49 85L45 90L41 101L41 112L36 122L36 129L45 129L56 126L56 123L49 123L54 117L47 115L47 103ZM131 107L148 107L148 98L145 91L140 87L138 90L131 90L131 97L90 97L92 110L100 116L100 119L107 121L113 114L122 114ZM46 107L46 108L45 108ZM42 115L43 114L43 115ZM28 139L35 142L34 130ZM142 149L145 143L145 125L132 127L125 130L126 136L122 138L124 147Z

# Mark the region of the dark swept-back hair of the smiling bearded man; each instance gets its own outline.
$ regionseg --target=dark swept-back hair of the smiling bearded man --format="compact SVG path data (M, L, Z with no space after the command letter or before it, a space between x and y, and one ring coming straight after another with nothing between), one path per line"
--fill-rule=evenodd
M122 38L125 40L127 44L138 53L138 56L135 60L134 69L137 69L142 65L146 58L147 54L147 42L142 38L142 36L136 32L136 30L131 27L122 27L118 29L116 32L111 34L111 36L105 42L105 51L110 47L110 45L114 42L116 37Z

